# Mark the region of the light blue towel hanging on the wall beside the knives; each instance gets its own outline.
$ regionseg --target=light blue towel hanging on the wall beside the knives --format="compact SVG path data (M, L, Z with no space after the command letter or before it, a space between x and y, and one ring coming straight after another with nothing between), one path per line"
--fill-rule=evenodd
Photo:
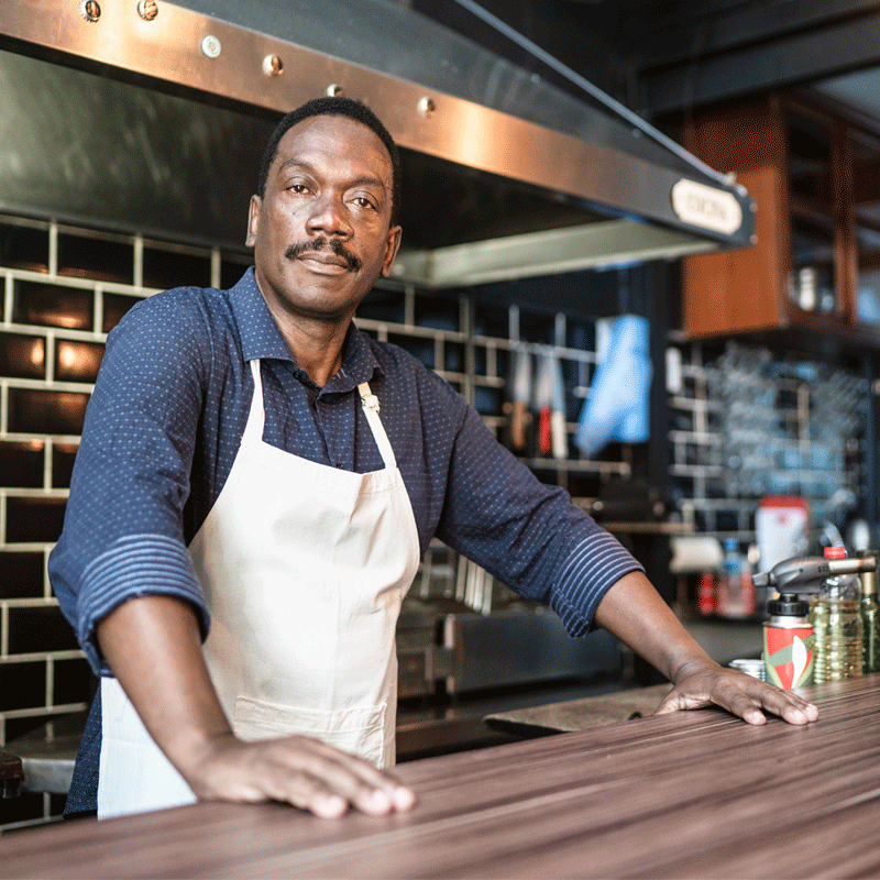
M648 319L637 315L622 315L614 321L574 436L587 458L594 458L614 440L641 443L648 439L652 373L649 330Z

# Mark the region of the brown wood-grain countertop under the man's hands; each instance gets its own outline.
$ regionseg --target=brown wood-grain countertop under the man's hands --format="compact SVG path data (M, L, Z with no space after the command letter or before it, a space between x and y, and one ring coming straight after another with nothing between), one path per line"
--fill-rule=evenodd
M411 813L194 804L0 838L0 877L880 875L880 673L805 689L815 724L719 710L414 761Z

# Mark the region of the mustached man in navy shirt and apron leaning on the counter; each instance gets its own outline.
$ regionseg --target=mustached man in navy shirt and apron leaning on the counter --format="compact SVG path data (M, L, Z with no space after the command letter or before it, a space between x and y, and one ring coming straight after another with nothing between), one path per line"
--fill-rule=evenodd
M266 150L254 270L152 297L108 340L50 565L103 675L70 795L88 806L97 776L99 815L196 798L408 809L384 769L394 628L433 535L573 635L627 642L675 684L660 712L816 717L714 663L617 541L354 328L400 243L399 174L366 108L305 105Z

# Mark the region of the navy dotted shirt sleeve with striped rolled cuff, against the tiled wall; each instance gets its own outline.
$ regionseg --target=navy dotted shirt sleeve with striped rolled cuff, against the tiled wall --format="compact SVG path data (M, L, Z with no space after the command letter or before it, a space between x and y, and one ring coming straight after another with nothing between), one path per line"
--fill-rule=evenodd
M129 598L168 595L209 619L184 537L208 345L196 307L146 300L108 339L50 580L92 669L110 670L98 622Z

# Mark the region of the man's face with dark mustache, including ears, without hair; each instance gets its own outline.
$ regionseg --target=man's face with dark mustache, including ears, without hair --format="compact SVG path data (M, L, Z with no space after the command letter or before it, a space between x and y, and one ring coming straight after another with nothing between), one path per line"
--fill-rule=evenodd
M400 244L385 145L348 117L310 117L278 143L246 243L277 318L348 321Z

